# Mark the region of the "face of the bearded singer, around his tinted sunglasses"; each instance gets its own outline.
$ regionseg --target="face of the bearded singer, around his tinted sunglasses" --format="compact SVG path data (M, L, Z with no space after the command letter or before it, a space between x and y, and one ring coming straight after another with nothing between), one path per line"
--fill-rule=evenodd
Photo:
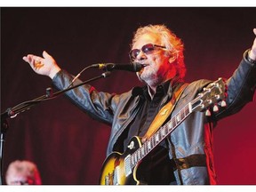
M138 41L132 46L132 50L140 50L140 53L136 58L134 58L134 61L147 64L148 66L142 68L140 72L137 72L137 76L147 84L162 83L166 80L168 71L170 71L171 68L169 63L170 56L166 49L162 47L155 47L154 51L149 53L142 52L141 48L145 44L157 44L164 46L164 44L161 44L161 39L156 34L145 34L140 36Z

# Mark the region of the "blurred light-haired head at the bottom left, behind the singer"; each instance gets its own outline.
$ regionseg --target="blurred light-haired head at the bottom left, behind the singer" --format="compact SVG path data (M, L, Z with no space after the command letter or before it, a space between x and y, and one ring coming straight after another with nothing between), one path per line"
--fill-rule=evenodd
M36 164L29 161L14 161L9 164L5 180L7 185L41 185Z

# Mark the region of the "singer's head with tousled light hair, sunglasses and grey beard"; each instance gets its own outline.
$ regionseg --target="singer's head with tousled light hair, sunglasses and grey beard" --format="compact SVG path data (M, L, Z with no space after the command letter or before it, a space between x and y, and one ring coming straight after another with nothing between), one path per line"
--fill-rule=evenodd
M137 73L147 84L157 85L173 77L182 80L186 74L184 44L164 25L138 28L132 39L130 59L148 64Z

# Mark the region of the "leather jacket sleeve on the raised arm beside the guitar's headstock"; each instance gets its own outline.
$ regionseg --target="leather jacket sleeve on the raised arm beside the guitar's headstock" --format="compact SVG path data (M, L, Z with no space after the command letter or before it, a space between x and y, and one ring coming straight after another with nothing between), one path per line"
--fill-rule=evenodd
M216 114L217 119L235 114L253 100L256 87L256 66L246 59L248 51L244 52L243 60L227 81L227 107Z

